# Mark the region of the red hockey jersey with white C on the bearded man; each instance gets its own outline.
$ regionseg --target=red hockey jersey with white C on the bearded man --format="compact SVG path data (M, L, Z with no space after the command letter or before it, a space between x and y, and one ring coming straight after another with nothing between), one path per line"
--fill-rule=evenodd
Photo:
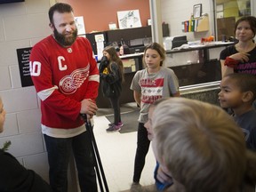
M78 36L74 44L62 47L47 36L33 47L29 65L41 100L42 125L72 129L84 124L80 101L95 100L100 83L90 42Z

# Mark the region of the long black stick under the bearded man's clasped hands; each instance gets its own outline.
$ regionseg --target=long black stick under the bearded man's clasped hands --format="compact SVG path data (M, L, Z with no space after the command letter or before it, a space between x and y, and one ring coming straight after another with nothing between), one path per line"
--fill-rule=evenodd
M105 190L106 190L106 192L109 192L108 183L107 183L105 173L104 173L104 170L103 170L103 166L102 166L101 160L100 160L99 150L98 150L97 143L96 143L96 140L95 140L95 137L94 137L94 133L92 131L92 124L90 122L90 119L87 119L86 114L82 114L81 116L84 119L86 130L89 132L90 140L92 141L91 142L91 144L92 144L91 145L92 157L93 157L93 161L94 161L94 164L95 164L96 175L97 175L97 178L98 178L98 181L99 181L99 184L100 184L100 191L104 192L104 188L103 188L103 185L102 185L102 180L103 180ZM100 169L99 169L99 167L100 167ZM101 180L100 173L101 173L101 176L102 176L102 180Z

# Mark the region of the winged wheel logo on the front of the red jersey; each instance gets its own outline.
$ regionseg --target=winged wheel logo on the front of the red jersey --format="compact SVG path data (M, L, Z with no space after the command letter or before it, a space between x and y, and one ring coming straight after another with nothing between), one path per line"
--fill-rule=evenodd
M87 76L89 76L90 65L86 68L78 68L70 75L64 76L60 80L60 92L64 94L72 94L84 83Z

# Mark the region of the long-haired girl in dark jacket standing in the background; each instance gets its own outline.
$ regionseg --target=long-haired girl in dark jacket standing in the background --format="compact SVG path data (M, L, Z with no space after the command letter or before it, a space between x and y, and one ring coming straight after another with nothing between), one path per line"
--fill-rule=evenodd
M103 95L108 97L114 109L114 123L108 124L107 132L118 132L124 125L121 121L119 99L124 81L124 66L115 47L107 46L100 61L100 84Z

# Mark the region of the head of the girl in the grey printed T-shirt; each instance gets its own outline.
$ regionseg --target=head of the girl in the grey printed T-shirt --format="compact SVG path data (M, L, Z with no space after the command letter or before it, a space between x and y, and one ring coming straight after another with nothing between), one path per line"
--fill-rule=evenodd
M149 68L150 66L148 65L152 64L163 66L163 62L165 60L164 47L157 43L148 44L144 50L143 58L145 67Z

